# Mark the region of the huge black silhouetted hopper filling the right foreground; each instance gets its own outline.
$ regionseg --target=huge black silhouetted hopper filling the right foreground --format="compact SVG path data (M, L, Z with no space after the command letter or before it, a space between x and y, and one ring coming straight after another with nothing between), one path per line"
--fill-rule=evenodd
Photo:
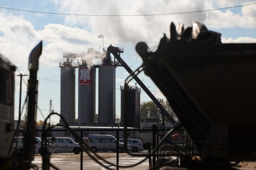
M155 52L140 42L145 74L168 98L199 152L188 169L232 169L256 160L256 44L222 44L197 22L171 23Z

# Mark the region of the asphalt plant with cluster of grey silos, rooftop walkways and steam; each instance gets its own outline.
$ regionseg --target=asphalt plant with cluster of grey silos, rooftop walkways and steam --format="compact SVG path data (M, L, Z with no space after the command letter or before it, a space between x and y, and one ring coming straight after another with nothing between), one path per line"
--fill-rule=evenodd
M123 53L123 48L109 46L103 52L88 49L87 53L63 53L61 69L61 115L69 126L75 126L75 86L78 76L78 122L79 126L111 127L116 125L116 67L128 66L110 56L114 51ZM78 75L76 75L78 68ZM129 67L128 67L129 68ZM127 70L127 69L126 69ZM98 77L96 72L98 71ZM127 70L130 72L130 70ZM96 96L96 79L98 96ZM142 83L142 82L141 82ZM136 83L137 84L137 83ZM123 126L124 86L121 90L121 126ZM140 93L136 86L128 86L128 127L140 127ZM98 97L98 103L96 103ZM98 105L98 122L96 123L96 105ZM60 120L62 123L62 120Z

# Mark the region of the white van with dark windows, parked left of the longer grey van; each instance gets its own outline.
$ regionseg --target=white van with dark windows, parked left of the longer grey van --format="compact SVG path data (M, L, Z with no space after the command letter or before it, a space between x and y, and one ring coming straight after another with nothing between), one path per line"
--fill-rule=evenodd
M74 142L70 137L48 137L47 142L54 144L55 153L80 154L80 144Z

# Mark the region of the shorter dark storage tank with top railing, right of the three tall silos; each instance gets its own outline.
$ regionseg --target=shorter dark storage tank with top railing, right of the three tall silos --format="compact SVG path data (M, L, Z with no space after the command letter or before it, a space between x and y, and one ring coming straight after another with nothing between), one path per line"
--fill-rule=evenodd
M125 99L125 89L121 86L121 126L124 126L124 99ZM128 100L127 100L127 126L132 128L139 128L139 105L138 98L140 98L140 93L138 93L139 88L137 86L128 86Z

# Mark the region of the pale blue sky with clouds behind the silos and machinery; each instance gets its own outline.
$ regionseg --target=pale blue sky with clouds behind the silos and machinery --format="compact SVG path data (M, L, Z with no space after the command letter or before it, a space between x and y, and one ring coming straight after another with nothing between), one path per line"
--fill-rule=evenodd
M256 43L256 0L12 0L0 3L0 53L17 67L15 75L28 74L28 56L33 47L43 41L38 70L37 112L37 120L43 120L50 109L60 113L59 62L63 61L64 52L86 52L88 48L100 50L103 43L104 47L112 44L124 48L121 57L132 70L136 70L142 65L142 59L135 51L138 42L146 42L149 50L155 51L164 33L170 37L171 22L175 25L183 23L187 28L193 21L221 33L223 43ZM104 35L104 42L103 38L97 38L100 34ZM77 69L76 75L78 77ZM124 85L127 77L128 72L124 68L116 68L117 116L120 116L121 107L120 86ZM165 99L143 72L138 77L156 98ZM23 77L22 106L27 81L28 76ZM135 83L132 81L130 85ZM20 77L16 76L16 119L19 112L19 84ZM76 118L77 93L76 78ZM149 100L142 91L141 102ZM57 123L59 117L53 116L50 121Z

